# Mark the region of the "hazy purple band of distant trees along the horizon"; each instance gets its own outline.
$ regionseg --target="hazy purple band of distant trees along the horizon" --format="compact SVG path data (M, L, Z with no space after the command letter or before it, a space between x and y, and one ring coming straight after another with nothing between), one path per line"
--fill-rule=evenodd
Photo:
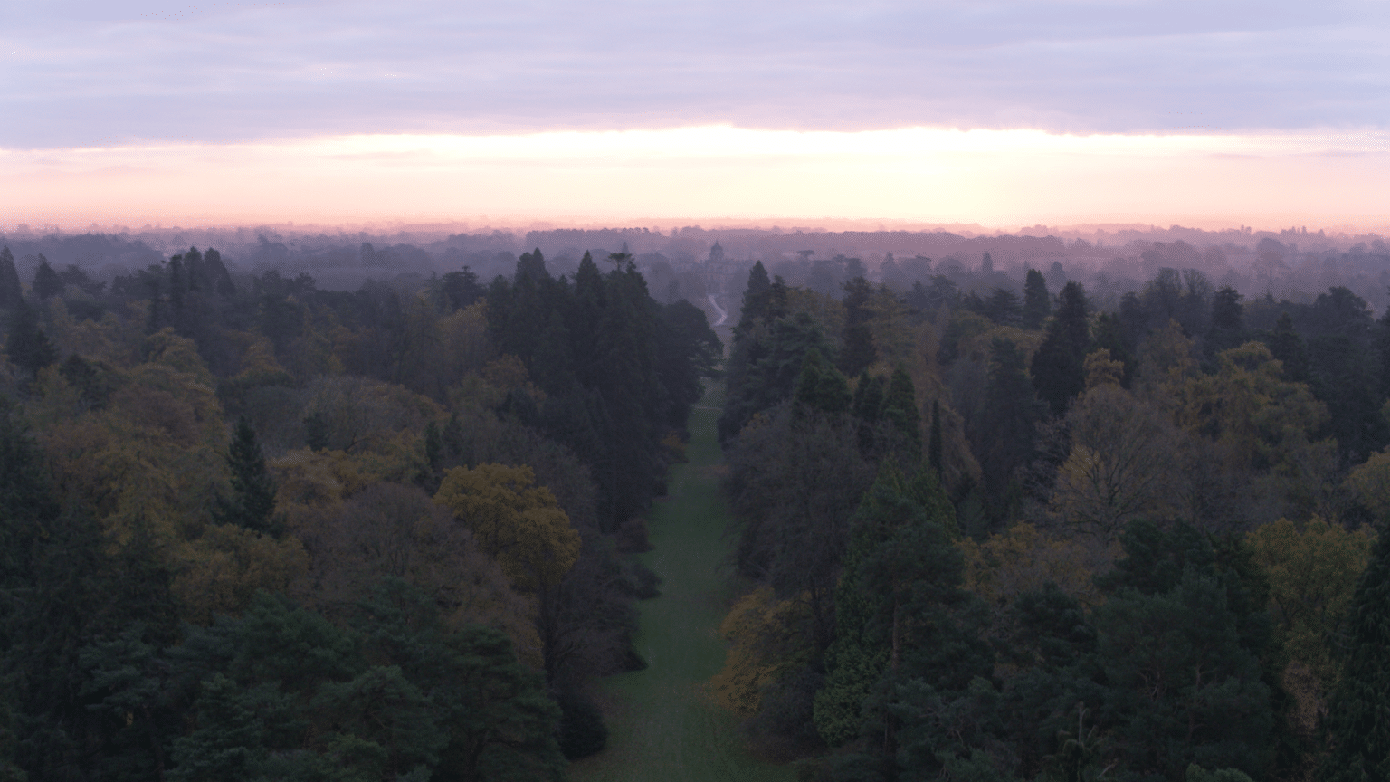
M1097 230L1084 235L1049 234L1045 227L1017 235L958 235L945 231L773 231L649 228L531 231L524 237L503 231L480 234L399 232L278 234L270 230L146 230L133 234L10 235L21 276L28 280L39 256L54 269L68 264L93 280L110 282L133 274L165 253L190 244L214 244L234 277L263 274L314 276L320 288L357 289L363 282L391 282L414 288L431 276L468 266L488 282L510 276L518 253L539 248L553 273L570 277L585 252L594 257L631 253L652 295L663 302L687 298L703 306L706 296L737 305L742 277L760 260L770 274L791 284L840 296L838 285L860 273L906 292L913 282L949 277L965 292L987 294L994 287L1022 291L1027 269L1038 269L1054 291L1068 281L1087 287L1093 301L1115 309L1126 291L1137 291L1159 269L1195 269L1218 285L1245 296L1270 294L1300 301L1332 287L1347 287L1375 308L1390 305L1390 249L1376 235L1325 235L1298 228L1279 232L1248 230L1198 231ZM731 267L735 282L696 271L714 245ZM983 259L988 256L990 262ZM1307 303L1307 302L1302 302ZM713 309L709 310L713 314Z

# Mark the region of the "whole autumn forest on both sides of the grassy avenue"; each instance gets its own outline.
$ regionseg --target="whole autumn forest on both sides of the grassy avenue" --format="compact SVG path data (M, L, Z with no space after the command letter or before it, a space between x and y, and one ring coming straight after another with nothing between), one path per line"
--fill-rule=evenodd
M626 244L356 289L131 246L0 252L0 778L563 778L716 387L708 689L803 779L1390 778L1390 312L1346 285L806 250L721 342Z

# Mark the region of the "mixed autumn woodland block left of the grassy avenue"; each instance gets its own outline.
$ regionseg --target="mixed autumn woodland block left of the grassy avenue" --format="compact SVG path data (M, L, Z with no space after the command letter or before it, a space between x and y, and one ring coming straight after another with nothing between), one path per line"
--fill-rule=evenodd
M0 309L0 776L560 779L603 747L587 686L644 665L642 513L721 352L627 256L341 291L4 248Z

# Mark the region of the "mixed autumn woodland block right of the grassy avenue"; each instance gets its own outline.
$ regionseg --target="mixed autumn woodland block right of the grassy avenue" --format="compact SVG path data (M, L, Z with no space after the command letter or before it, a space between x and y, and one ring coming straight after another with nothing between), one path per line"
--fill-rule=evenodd
M1390 313L1311 299L756 264L713 682L748 740L827 781L1390 778Z

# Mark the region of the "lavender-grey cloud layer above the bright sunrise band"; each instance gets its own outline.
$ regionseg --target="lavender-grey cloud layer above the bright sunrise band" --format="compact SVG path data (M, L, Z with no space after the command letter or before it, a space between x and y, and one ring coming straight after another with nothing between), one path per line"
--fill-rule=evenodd
M58 195L96 173L188 168L190 154L215 174L217 157L245 157L235 145L398 134L1297 136L1293 153L1362 154L1379 171L1390 131L1384 0L6 0L0 13L0 166ZM1241 150L1200 152L1218 153ZM24 206L14 198L0 207Z

